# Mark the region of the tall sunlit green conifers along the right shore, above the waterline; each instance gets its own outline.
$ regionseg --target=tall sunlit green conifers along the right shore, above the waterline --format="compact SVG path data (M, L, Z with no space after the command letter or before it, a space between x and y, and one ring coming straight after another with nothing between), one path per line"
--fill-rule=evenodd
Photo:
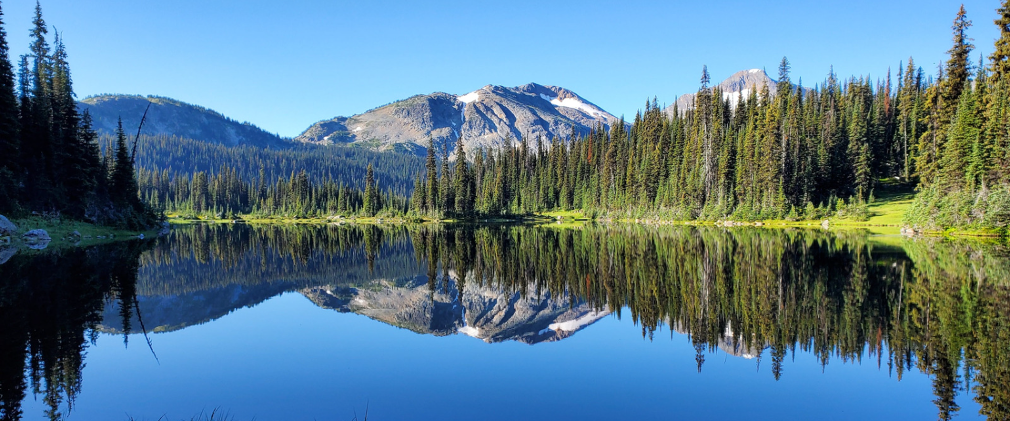
M709 87L695 104L665 112L646 102L629 127L565 142L521 138L454 166L429 147L412 209L501 215L581 209L676 219L866 216L882 180L919 189L910 223L1006 226L1010 222L1010 6L988 65L973 66L964 8L950 58L936 77L910 59L874 82L832 72L807 89L779 67L776 94ZM974 76L973 76L974 73ZM463 159L459 159L463 157Z

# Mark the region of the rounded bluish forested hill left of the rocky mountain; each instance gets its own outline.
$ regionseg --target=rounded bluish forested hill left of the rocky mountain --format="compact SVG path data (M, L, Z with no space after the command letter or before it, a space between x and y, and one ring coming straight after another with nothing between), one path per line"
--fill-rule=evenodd
M292 143L247 122L237 122L198 105L171 98L139 95L97 95L78 103L78 109L91 113L95 129L115 133L119 117L127 135L136 133L143 110L150 102L143 134L166 134L203 140L226 146L251 145L283 148Z

